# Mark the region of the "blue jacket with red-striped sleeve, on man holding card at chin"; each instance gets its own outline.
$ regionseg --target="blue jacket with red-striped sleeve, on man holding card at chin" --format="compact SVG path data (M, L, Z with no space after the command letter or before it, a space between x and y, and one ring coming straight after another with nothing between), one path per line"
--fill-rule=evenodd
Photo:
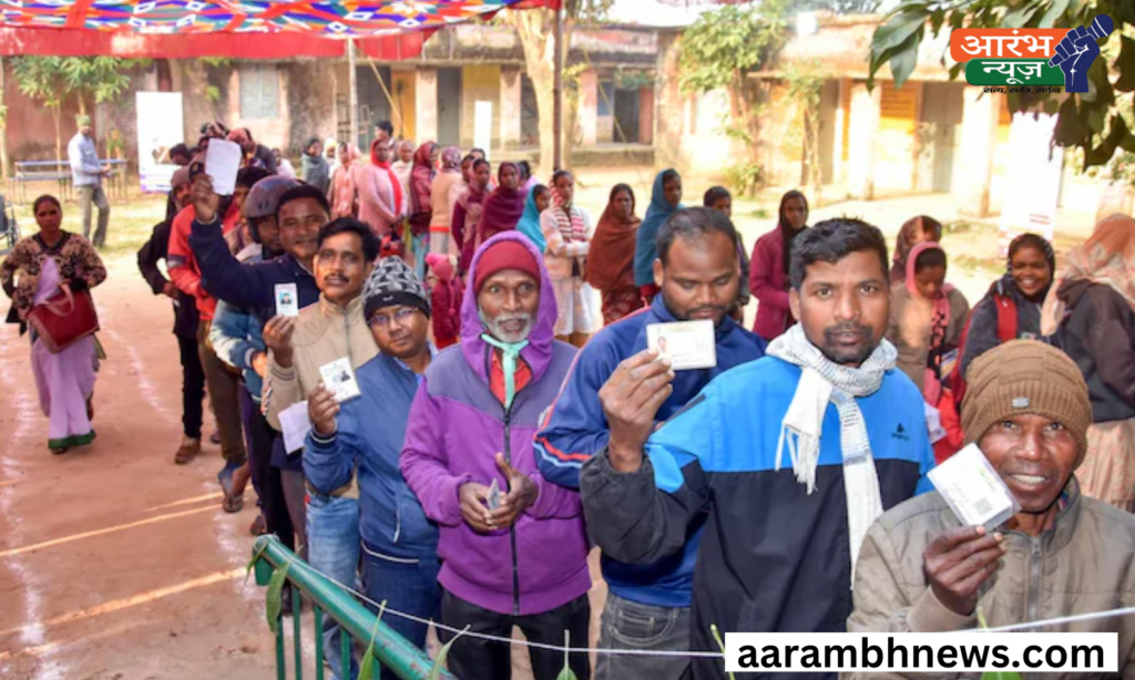
M599 331L580 351L536 437L537 461L545 478L579 488L580 467L607 445L609 436L607 418L599 405L599 388L623 359L646 349L648 324L672 321L674 315L659 295L649 308ZM658 420L674 415L717 375L764 354L763 339L726 317L717 328L717 366L678 372L674 392L658 409ZM603 577L611 590L624 600L689 606L699 536L700 532L691 532L684 551L655 564L624 564L604 555Z

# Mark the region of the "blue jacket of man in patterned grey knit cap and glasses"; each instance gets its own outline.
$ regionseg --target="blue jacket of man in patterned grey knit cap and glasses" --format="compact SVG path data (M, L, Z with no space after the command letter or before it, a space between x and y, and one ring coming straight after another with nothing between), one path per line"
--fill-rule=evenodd
M317 490L330 493L356 470L359 530L368 547L395 558L435 558L437 527L426 519L398 469L419 376L381 354L355 374L362 396L343 405L329 439L308 434L303 471Z

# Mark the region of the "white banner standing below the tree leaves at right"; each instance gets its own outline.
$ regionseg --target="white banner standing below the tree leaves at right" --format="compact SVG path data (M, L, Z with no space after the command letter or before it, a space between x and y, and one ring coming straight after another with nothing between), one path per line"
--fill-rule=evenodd
M1009 244L1022 233L1040 233L1052 240L1063 169L1063 148L1051 145L1056 124L1056 116L1044 113L1012 117L998 239L1001 257L1008 256Z

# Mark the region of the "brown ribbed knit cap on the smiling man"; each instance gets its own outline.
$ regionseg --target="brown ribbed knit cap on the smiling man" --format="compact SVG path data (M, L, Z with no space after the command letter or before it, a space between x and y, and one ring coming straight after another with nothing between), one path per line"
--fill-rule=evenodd
M1035 414L1067 427L1079 444L1076 465L1083 460L1092 402L1084 374L1068 355L1036 340L1012 340L974 359L966 380L961 428L967 444L1008 416Z

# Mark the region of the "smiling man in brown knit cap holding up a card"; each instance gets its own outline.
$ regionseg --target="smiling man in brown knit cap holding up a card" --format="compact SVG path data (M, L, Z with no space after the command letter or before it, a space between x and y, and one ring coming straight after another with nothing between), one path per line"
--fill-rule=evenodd
M997 628L1135 605L1135 518L1083 495L1074 474L1092 424L1079 368L1050 345L1014 340L975 359L967 377L970 448L934 470L939 491L871 527L848 630L965 630L978 615ZM967 452L976 460L965 462ZM1135 674L1130 617L1039 630L1117 632L1119 675Z

